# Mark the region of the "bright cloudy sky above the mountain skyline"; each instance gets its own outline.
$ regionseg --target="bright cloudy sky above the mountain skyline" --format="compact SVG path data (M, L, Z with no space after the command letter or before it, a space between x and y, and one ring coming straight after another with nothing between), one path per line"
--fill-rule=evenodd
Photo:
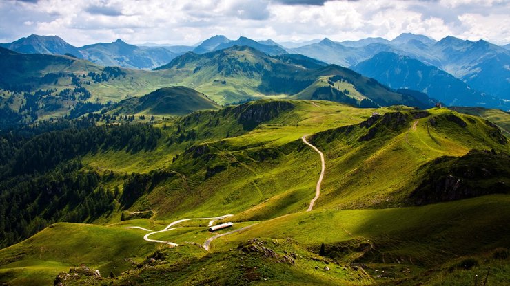
M306 41L402 32L510 43L510 0L0 0L0 42L194 44L216 34Z

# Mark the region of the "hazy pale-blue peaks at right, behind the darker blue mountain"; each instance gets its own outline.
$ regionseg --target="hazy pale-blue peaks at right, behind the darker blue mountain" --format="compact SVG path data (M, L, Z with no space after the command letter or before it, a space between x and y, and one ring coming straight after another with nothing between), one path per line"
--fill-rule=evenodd
M472 89L507 100L510 94L510 52L483 40L472 42L447 36L436 42L422 35L402 34L392 41L365 39L347 45L324 39L290 51L346 67L380 52L393 52L438 67Z

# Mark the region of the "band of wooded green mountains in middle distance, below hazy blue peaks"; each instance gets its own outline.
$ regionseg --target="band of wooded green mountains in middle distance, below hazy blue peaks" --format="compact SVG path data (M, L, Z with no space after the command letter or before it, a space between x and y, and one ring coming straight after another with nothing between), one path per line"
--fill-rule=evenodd
M21 54L3 48L0 57L0 89L4 91L0 103L19 113L19 120L29 122L56 115L79 116L98 111L104 104L176 85L192 87L220 104L278 97L334 100L360 107L433 105L427 96L399 94L345 67L296 54L269 56L238 45L205 54L187 52L154 71L101 67L72 56ZM135 101L128 100L132 106L143 106ZM161 113L148 107L129 110Z

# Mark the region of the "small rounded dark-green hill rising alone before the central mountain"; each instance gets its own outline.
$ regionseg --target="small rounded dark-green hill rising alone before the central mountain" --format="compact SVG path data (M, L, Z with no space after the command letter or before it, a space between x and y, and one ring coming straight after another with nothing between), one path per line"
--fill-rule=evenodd
M139 98L122 100L112 107L114 113L186 115L197 110L219 109L214 101L187 87L165 87Z

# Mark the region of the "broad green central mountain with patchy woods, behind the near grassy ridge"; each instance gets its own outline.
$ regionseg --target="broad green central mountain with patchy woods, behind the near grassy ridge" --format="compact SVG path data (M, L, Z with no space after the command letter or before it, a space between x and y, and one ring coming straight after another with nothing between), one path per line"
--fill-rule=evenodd
M188 52L157 70L190 72L187 85L219 102L246 100L254 95L287 95L358 106L387 106L397 102L411 106L431 104L396 94L376 80L344 67L321 65L313 59L292 54L269 56L248 46L234 45L207 54Z

